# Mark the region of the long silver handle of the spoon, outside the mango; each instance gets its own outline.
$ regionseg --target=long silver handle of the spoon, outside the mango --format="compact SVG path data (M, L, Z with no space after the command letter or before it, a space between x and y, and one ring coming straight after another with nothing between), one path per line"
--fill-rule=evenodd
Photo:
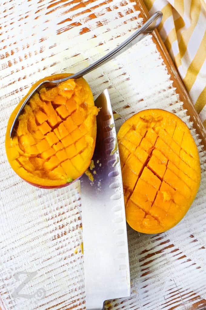
M119 46L109 52L107 55L103 56L99 60L95 61L93 64L90 64L85 69L69 76L69 78L62 79L61 81L66 81L67 79L71 78L80 78L83 75L91 72L92 70L100 67L103 64L106 64L111 59L116 58L118 55L123 53L124 51L128 50L128 48L132 47L137 42L141 41L141 39L145 38L146 35L151 33L162 20L162 12L157 11L153 14L149 20L147 20L135 33L133 33L129 38L127 38L124 42L122 42Z

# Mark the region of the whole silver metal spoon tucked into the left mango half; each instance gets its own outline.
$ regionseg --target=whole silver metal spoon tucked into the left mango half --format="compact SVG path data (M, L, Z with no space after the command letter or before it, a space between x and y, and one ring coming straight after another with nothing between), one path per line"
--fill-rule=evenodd
M15 128L17 125L17 121L19 118L19 115L22 113L24 106L28 103L29 99L32 97L32 95L42 87L51 88L57 86L61 82L65 82L71 78L80 78L83 75L89 73L90 71L100 67L102 64L106 64L111 59L115 58L116 56L120 55L124 51L126 51L129 47L133 46L137 42L139 42L141 39L143 39L147 34L151 33L158 25L160 24L162 20L162 12L157 11L155 14L153 14L149 20L147 20L135 33L133 33L128 39L126 39L123 43L121 43L119 46L117 46L114 50L109 52L107 55L103 56L99 60L95 61L93 64L90 64L85 69L70 75L67 78L62 78L60 80L55 81L43 81L41 82L36 88L27 96L27 98L24 100L21 108L19 109L14 122L11 126L10 130L10 138L14 137L15 134Z

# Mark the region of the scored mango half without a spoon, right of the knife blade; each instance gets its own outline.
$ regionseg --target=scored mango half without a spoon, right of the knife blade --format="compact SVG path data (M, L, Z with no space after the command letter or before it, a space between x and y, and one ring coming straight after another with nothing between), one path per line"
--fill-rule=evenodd
M176 225L200 185L200 160L188 127L159 109L141 111L117 135L128 224L159 233Z

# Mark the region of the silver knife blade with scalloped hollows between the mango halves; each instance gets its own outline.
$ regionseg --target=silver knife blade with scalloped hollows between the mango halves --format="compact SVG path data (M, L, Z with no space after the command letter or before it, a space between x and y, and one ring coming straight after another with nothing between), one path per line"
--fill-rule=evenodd
M86 309L130 296L127 229L119 151L108 90L95 100L97 139L91 170L81 178Z

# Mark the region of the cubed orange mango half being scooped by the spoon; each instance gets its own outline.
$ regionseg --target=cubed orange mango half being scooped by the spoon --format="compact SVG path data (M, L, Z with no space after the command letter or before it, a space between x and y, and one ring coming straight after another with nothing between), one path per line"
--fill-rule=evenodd
M57 74L43 80L67 76ZM98 108L87 82L70 79L48 90L42 88L25 106L10 139L23 100L11 114L6 131L6 153L13 170L41 187L59 187L78 179L91 162L96 140Z

